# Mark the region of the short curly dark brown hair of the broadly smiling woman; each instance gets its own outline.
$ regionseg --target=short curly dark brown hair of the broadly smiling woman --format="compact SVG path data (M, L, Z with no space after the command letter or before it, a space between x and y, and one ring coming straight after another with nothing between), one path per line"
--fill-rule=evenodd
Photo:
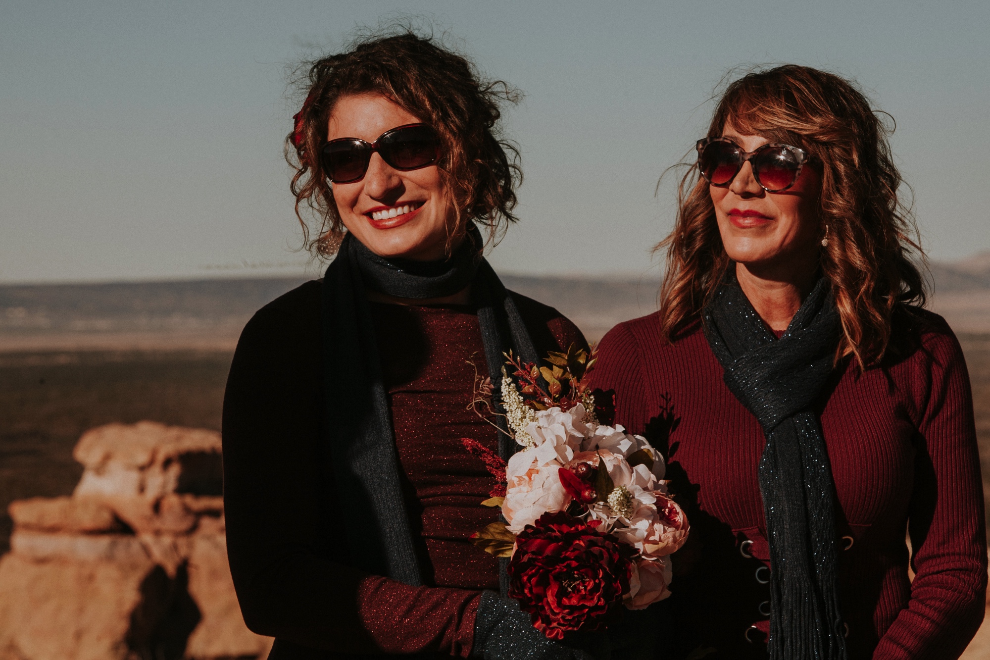
M309 62L303 85L306 102L296 129L286 136L285 157L295 169L290 189L296 216L310 250L332 255L345 234L334 190L318 155L327 140L328 122L337 101L350 94L379 93L440 134L438 166L453 199L455 217L450 239L466 222L489 229L495 240L517 218L516 186L522 181L519 152L501 138L500 106L519 94L501 80L484 80L462 55L452 53L411 30L374 36L351 44L345 53ZM316 238L301 207L319 221Z

